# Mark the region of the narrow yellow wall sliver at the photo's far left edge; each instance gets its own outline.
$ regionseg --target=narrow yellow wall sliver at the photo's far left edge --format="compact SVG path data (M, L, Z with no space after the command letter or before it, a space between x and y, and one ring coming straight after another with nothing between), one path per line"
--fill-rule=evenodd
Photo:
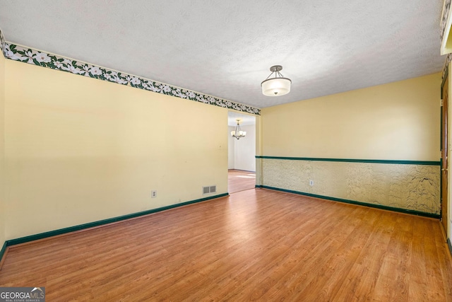
M5 58L0 54L0 249L5 243L4 209L4 104L5 104Z

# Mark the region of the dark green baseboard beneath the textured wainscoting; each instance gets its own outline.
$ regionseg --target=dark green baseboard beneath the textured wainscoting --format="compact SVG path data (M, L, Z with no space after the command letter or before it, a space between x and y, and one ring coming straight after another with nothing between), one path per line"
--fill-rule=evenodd
M285 189L281 189L279 187L269 187L267 185L256 185L256 187L257 188L268 189L268 190L275 190L275 191L299 194L299 195L304 195L304 196L309 196L309 197L316 197L316 198L321 198L321 199L333 200L334 202L343 202L345 204L357 204L359 206L364 206L364 207L371 207L371 208L383 209L383 210L388 210L388 211L396 211L396 212L399 212L399 213L430 217L430 218L434 218L434 219L440 219L441 218L441 216L439 214L425 213L425 212L422 212L422 211L412 211L412 210L400 209L400 208L396 208L396 207L387 207L387 206L381 206L380 204L369 204L367 202L357 202L355 200L342 199L342 198L336 198L336 197L330 197L330 196L323 196L323 195L311 194L311 193L307 193L307 192L285 190Z

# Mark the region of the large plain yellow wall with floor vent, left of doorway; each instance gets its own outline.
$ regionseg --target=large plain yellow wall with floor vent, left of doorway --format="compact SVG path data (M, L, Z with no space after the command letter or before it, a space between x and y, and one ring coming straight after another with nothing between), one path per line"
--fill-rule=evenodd
M11 60L6 74L6 239L227 192L227 109Z

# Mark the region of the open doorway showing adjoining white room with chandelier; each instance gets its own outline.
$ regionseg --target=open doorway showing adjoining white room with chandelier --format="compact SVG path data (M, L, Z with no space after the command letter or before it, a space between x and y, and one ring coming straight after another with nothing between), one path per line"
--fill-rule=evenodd
M231 132L237 120L245 137L236 139ZM238 112L227 113L228 128L228 192L234 193L256 187L256 117Z

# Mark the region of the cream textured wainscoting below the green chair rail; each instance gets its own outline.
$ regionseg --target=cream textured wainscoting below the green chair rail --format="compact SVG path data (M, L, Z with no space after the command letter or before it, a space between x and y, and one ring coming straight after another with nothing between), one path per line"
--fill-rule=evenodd
M261 165L264 187L440 214L439 165L278 158Z

